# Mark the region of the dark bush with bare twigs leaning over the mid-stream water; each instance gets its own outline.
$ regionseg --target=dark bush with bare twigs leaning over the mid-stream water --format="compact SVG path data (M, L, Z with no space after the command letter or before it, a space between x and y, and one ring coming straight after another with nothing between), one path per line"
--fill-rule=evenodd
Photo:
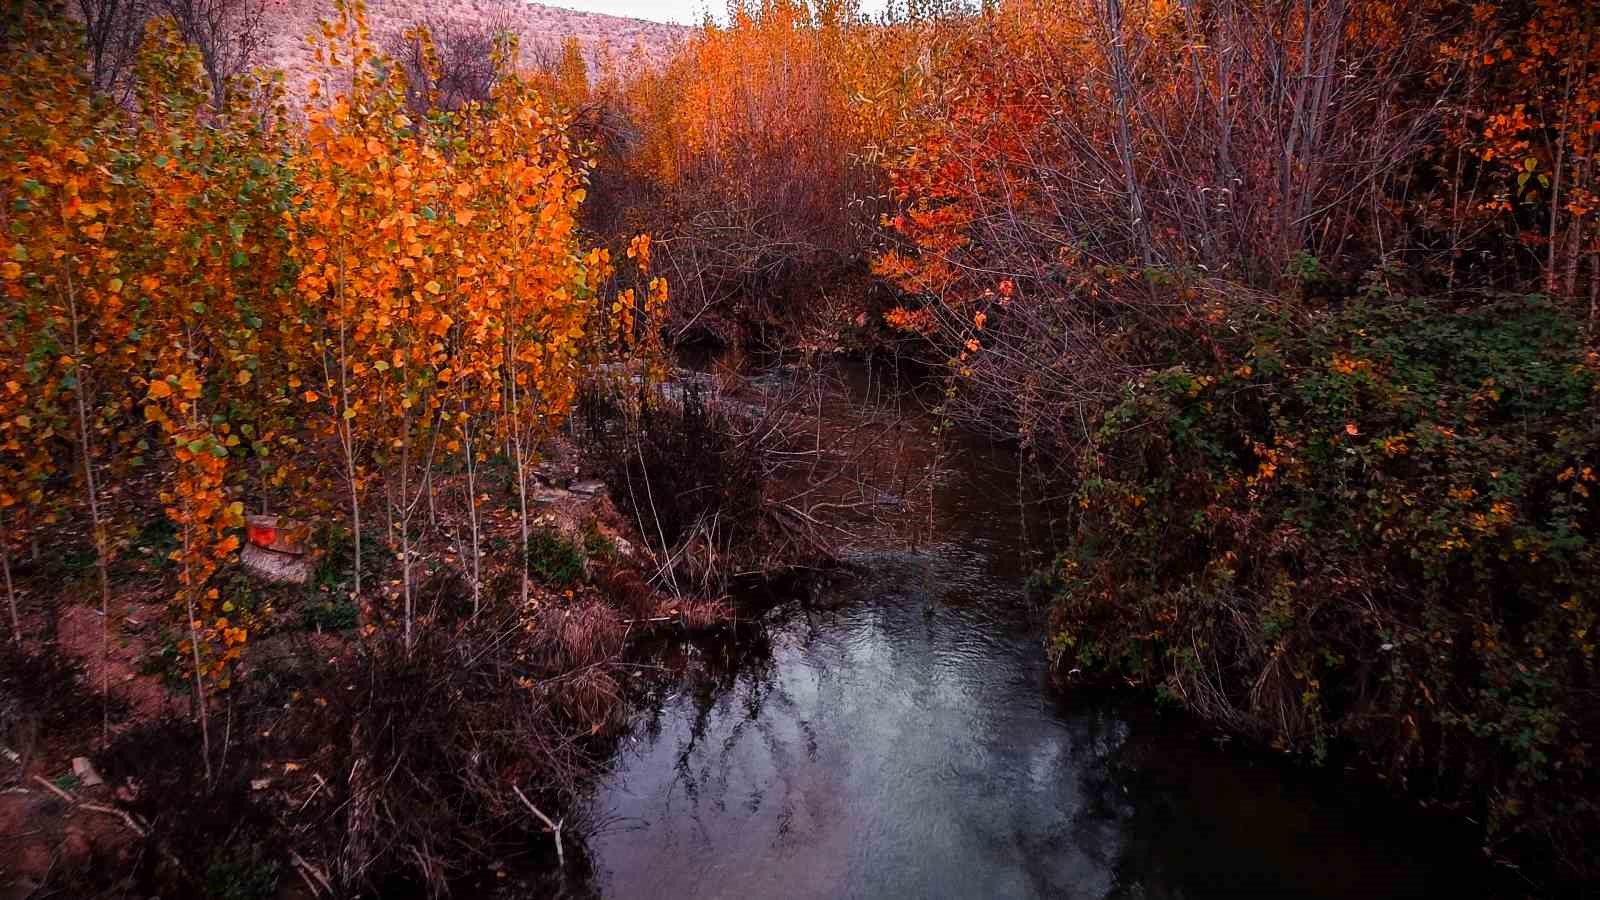
M587 388L579 437L651 544L654 581L680 597L837 560L928 477L909 471L899 408L814 367L616 381Z

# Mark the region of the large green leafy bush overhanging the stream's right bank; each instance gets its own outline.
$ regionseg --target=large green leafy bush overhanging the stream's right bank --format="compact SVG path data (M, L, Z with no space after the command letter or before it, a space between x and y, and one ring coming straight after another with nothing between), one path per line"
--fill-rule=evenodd
M1058 663L1318 759L1344 740L1491 846L1594 874L1600 359L1579 322L1541 296L1246 306L1101 418Z

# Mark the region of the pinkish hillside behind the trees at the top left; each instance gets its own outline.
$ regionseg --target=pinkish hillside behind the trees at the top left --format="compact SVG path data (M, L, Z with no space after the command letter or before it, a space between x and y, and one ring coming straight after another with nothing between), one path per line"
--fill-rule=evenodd
M266 46L261 62L283 69L291 90L299 90L310 67L306 45L317 22L333 18L333 0L266 0ZM566 37L578 37L587 51L590 67L603 59L629 59L635 48L645 58L661 61L685 34L683 26L560 10L517 0L368 0L366 19L378 45L413 22L451 22L507 26L522 34L522 54L558 48Z

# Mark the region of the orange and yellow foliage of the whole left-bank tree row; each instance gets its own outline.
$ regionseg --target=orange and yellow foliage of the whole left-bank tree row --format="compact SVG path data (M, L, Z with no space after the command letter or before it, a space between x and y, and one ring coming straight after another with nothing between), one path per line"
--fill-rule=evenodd
M517 444L525 485L622 311L602 296L610 255L579 239L590 162L568 114L502 70L488 102L410 120L360 3L314 40L325 78L299 133L278 78L211 106L165 21L136 115L93 94L70 24L18 34L0 66L6 543L70 512L43 485L80 466L104 573L125 532L98 479L155 464L194 669L226 682L251 626L218 588L245 501L322 512L320 479L342 469L357 540L374 496L397 524L410 636L424 479L446 455ZM648 272L648 237L630 255ZM619 333L638 336L630 315L666 293L654 279L629 299Z

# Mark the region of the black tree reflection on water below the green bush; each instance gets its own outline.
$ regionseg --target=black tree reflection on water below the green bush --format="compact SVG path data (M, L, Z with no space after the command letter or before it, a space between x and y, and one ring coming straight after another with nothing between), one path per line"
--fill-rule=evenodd
M1339 772L1291 772L1205 740L1189 719L1102 705L1067 721L1082 806L1072 842L1109 900L1483 895L1459 836L1363 801Z

